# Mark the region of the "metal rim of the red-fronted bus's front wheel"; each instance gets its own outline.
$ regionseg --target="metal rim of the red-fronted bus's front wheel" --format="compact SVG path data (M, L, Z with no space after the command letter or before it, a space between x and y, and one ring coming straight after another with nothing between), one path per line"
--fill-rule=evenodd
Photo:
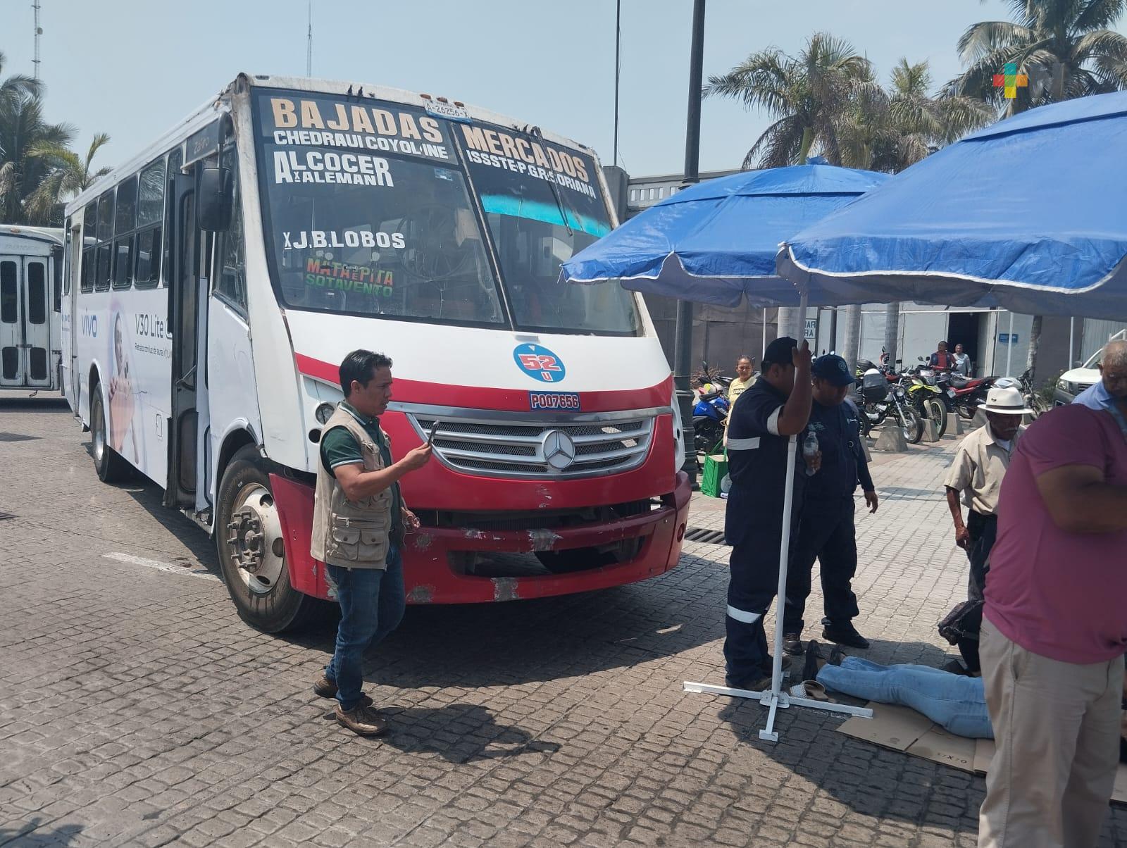
M285 571L282 521L274 495L260 483L248 483L234 497L227 524L227 556L254 594L267 594Z

